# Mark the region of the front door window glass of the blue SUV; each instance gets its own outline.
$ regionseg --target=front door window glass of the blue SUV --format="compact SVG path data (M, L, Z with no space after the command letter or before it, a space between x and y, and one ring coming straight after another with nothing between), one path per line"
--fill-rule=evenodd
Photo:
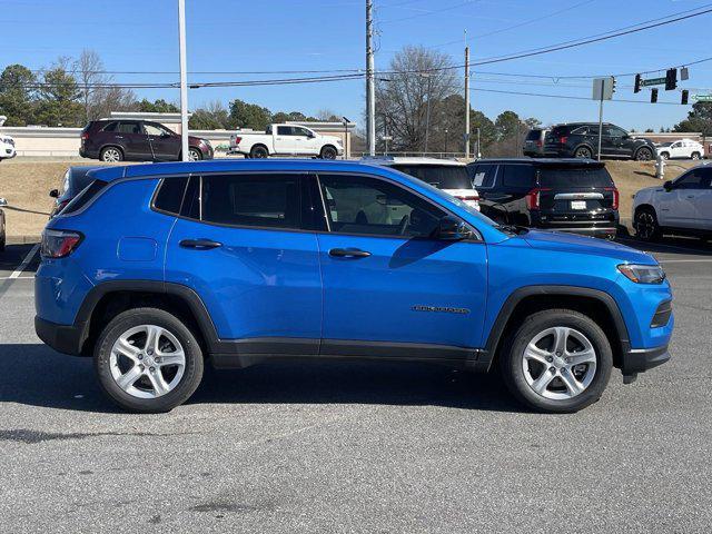
M428 237L445 211L394 184L365 176L319 176L332 231Z

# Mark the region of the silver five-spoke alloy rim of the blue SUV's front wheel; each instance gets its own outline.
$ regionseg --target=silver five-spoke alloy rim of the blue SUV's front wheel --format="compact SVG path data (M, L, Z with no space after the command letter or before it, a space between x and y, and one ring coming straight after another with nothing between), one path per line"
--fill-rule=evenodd
M596 350L581 332L565 326L536 334L522 354L528 386L542 397L566 400L581 395L596 374Z

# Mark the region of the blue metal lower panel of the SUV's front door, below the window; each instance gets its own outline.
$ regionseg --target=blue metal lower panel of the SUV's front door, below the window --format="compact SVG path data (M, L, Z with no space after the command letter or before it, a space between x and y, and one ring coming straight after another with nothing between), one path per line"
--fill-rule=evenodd
M479 347L486 247L322 234L324 339ZM367 257L334 257L333 249Z

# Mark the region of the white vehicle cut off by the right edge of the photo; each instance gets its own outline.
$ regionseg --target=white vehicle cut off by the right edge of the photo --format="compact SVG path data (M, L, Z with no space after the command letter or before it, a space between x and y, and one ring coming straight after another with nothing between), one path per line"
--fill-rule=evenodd
M663 234L712 236L712 165L694 167L674 181L637 191L633 196L633 227L645 240Z

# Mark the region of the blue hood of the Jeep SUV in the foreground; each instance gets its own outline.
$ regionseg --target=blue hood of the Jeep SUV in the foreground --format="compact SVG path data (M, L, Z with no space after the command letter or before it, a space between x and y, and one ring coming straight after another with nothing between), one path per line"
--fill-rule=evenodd
M520 237L533 248L605 256L619 259L622 263L657 265L655 258L646 253L595 237L542 230L530 230Z

